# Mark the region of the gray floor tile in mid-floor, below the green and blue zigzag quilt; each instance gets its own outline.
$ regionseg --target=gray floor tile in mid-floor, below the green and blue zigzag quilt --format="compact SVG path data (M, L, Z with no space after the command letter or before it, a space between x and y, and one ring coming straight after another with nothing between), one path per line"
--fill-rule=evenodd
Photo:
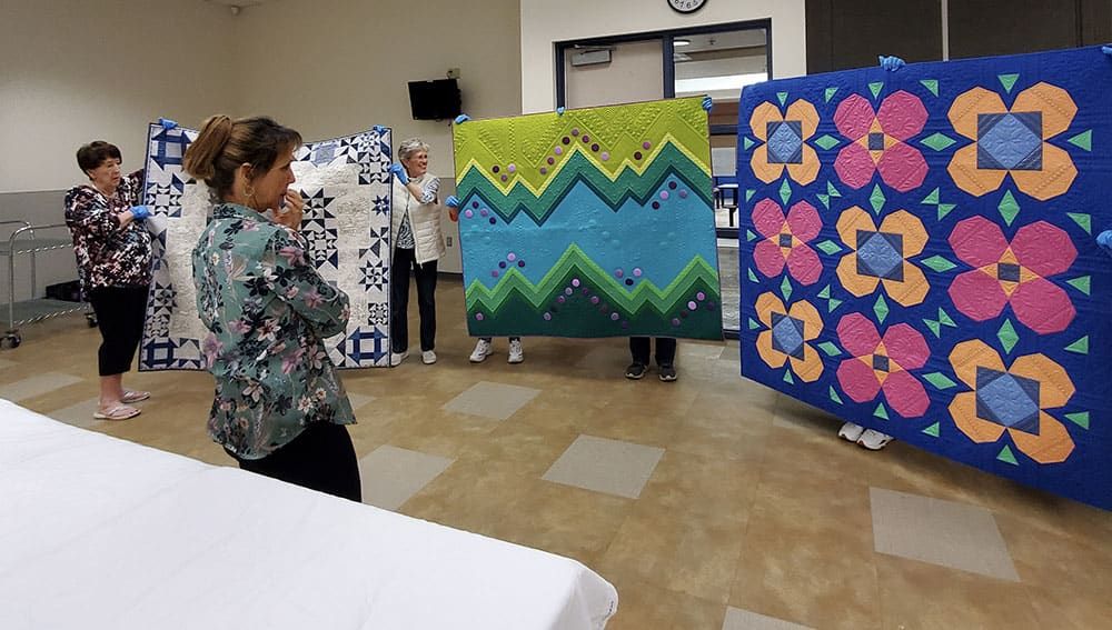
M641 496L664 449L579 436L545 472L546 481L627 499Z

